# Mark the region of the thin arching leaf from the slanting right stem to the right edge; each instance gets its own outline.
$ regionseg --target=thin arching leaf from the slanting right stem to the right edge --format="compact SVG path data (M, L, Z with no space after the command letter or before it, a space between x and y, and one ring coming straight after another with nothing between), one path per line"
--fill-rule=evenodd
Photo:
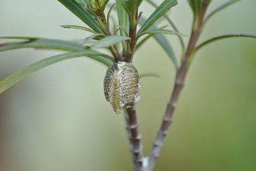
M200 50L200 48L204 47L205 45L208 45L209 43L212 43L214 41L222 40L225 38L236 38L236 37L256 38L256 33L234 33L234 34L225 34L222 36L217 36L217 37L211 38L209 40L206 40L203 43L201 43L200 45L198 45L195 48L195 52Z

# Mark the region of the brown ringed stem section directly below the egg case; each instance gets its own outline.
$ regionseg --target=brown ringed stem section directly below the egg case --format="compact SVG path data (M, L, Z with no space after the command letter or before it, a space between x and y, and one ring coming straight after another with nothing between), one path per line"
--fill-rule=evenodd
M141 134L139 131L139 123L136 115L136 108L127 108L126 110L127 132L130 142L130 150L132 153L133 170L140 171L143 167L143 146L141 145Z

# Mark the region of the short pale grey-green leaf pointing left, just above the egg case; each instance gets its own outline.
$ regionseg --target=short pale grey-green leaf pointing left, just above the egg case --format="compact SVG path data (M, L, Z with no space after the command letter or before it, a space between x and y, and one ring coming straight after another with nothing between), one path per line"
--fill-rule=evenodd
M116 43L119 43L120 41L124 40L131 40L129 37L125 36L108 36L106 38L102 38L101 40L95 42L94 45L92 45L92 48L102 48L102 47L110 47L111 45L115 45Z

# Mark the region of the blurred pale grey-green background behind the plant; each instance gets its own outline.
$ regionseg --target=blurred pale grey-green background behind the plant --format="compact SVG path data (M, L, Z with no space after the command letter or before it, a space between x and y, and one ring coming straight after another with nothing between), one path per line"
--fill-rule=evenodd
M223 1L213 0L209 11ZM215 15L200 41L225 33L256 32L256 1L244 0ZM144 3L147 17L153 10ZM180 0L170 13L188 34L191 11ZM90 34L63 29L83 23L58 1L0 1L0 36L81 40ZM165 23L161 23L161 26ZM175 52L179 41L170 36ZM186 38L188 40L188 38ZM1 52L0 78L58 51ZM134 57L141 79L138 117L148 154L173 87L173 64L154 40ZM232 38L196 55L156 170L256 170L256 40ZM124 115L104 99L106 67L87 58L54 64L0 94L0 170L131 170Z

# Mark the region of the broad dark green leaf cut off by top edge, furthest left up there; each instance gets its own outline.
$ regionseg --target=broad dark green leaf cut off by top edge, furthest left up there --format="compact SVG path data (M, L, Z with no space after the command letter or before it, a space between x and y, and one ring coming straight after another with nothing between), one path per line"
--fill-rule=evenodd
M72 11L74 15L79 17L85 24L87 24L89 27L91 27L94 31L97 33L103 33L102 29L99 26L99 23L94 19L96 15L93 15L94 13L86 8L86 6L83 6L83 3L77 3L75 0L58 0L60 3L62 3L64 6L68 8L68 10Z

